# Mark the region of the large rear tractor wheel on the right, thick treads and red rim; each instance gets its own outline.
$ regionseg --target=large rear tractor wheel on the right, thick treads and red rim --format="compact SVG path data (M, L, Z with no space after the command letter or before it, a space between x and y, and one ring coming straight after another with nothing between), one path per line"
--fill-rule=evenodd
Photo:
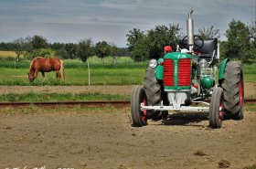
M235 120L242 120L244 86L240 62L229 61L227 63L221 87L224 90L225 116Z

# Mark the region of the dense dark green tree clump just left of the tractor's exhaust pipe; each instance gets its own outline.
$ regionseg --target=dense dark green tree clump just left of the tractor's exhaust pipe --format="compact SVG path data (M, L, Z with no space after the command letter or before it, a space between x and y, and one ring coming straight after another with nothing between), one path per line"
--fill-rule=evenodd
M161 58L164 48L167 45L176 48L181 37L181 28L178 25L155 26L144 33L139 29L133 29L126 35L127 45L135 61L142 61L148 58Z

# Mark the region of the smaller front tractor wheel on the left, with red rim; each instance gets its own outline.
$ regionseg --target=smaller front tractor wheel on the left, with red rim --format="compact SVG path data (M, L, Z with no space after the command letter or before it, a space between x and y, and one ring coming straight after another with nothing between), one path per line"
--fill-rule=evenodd
M133 89L132 100L131 100L131 114L133 127L143 127L147 124L146 113L147 111L141 110L141 104L147 105L146 94L144 89L140 86Z

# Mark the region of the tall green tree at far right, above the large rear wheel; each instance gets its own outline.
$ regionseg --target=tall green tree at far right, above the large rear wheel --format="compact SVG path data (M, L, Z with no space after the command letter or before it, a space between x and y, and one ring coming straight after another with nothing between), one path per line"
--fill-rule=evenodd
M226 37L228 41L225 44L225 58L236 58L247 62L249 58L246 54L250 49L249 27L240 22L240 20L233 19L229 23Z

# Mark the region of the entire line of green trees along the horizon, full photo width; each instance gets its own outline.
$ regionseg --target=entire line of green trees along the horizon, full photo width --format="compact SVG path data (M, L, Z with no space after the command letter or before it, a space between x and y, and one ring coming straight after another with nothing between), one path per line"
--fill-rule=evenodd
M220 37L219 29L210 26L202 27L196 33L203 39ZM225 36L227 41L219 41L220 57L239 59L245 63L256 61L256 21L244 24L240 20L232 20ZM80 58L86 62L91 56L102 58L116 56L131 56L134 61L144 61L150 58L163 57L163 48L167 45L176 50L176 44L185 35L179 25L155 26L142 31L137 28L130 30L127 37L128 48L117 48L111 43L101 41L95 45L91 38L82 39L79 43L48 43L45 37L34 36L17 38L13 42L0 43L0 50L16 51L17 58L24 55L27 58L36 56L56 55L60 58Z

